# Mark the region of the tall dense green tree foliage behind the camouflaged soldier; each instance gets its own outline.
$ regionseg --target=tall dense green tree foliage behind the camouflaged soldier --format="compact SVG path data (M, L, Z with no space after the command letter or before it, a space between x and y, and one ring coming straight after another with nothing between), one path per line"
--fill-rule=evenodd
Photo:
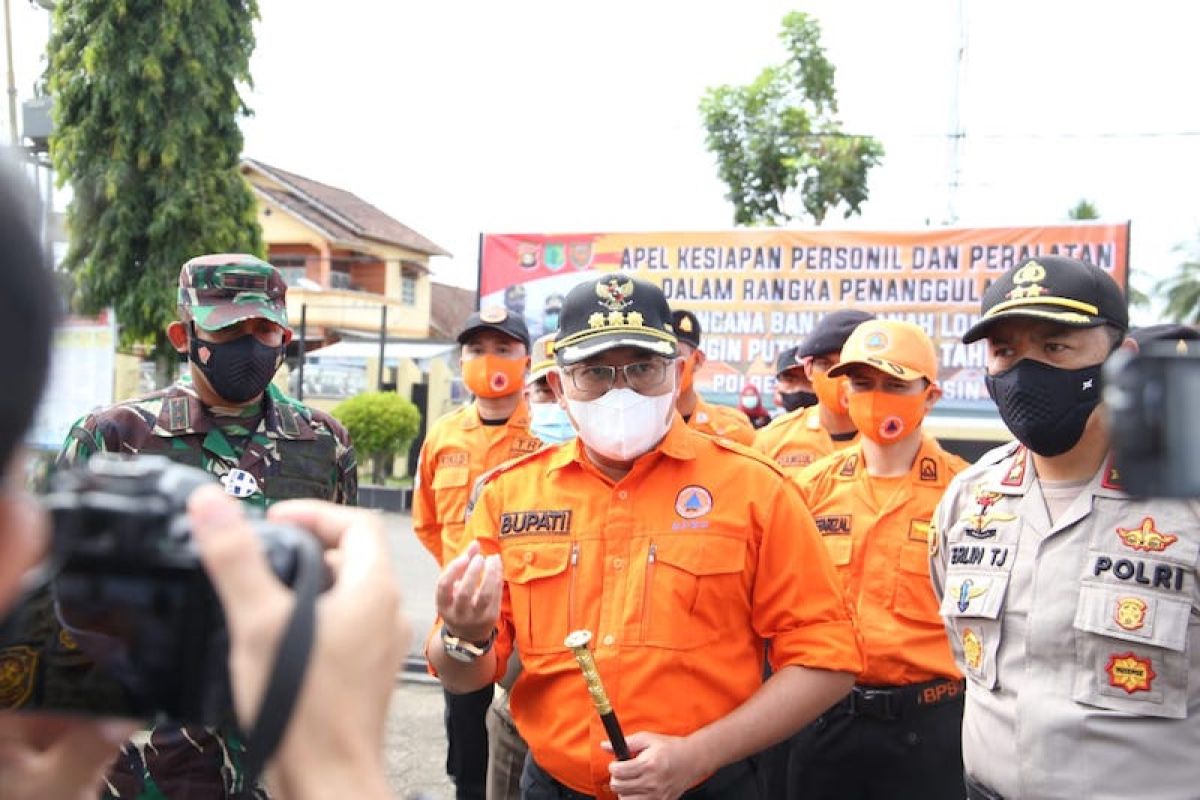
M60 0L49 43L59 184L70 185L74 305L116 309L122 341L168 351L179 267L263 254L238 172L257 0Z

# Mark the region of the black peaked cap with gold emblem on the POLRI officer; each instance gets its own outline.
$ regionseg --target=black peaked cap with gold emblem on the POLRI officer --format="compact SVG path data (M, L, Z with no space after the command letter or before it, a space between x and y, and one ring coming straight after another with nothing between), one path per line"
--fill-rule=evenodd
M1044 319L1070 327L1114 325L1129 330L1129 306L1100 267L1066 255L1031 258L1000 276L983 293L983 318L964 336L971 344L1001 319Z

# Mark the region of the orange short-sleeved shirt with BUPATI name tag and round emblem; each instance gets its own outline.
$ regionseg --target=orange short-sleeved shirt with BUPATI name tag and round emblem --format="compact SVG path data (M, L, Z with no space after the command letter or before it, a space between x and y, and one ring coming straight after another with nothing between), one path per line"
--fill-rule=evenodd
M499 679L523 672L512 718L538 764L611 796L604 726L563 639L593 633L625 732L686 735L762 686L763 640L788 664L857 673L857 633L799 493L746 447L667 435L613 483L578 440L496 471L467 524L502 555Z

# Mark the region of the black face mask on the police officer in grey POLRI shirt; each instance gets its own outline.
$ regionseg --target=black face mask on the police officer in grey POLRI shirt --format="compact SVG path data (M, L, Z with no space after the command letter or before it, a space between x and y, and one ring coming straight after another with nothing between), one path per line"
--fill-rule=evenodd
M1100 402L1100 366L1060 369L1022 359L984 381L1016 440L1049 458L1067 452L1084 435L1087 417Z

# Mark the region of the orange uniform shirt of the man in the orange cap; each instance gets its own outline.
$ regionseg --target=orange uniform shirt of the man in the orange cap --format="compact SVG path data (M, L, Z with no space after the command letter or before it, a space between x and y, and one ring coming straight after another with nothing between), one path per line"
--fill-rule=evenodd
M854 609L866 655L860 685L962 676L929 579L929 521L950 479L966 467L925 435L901 477L868 475L858 445L792 479Z

